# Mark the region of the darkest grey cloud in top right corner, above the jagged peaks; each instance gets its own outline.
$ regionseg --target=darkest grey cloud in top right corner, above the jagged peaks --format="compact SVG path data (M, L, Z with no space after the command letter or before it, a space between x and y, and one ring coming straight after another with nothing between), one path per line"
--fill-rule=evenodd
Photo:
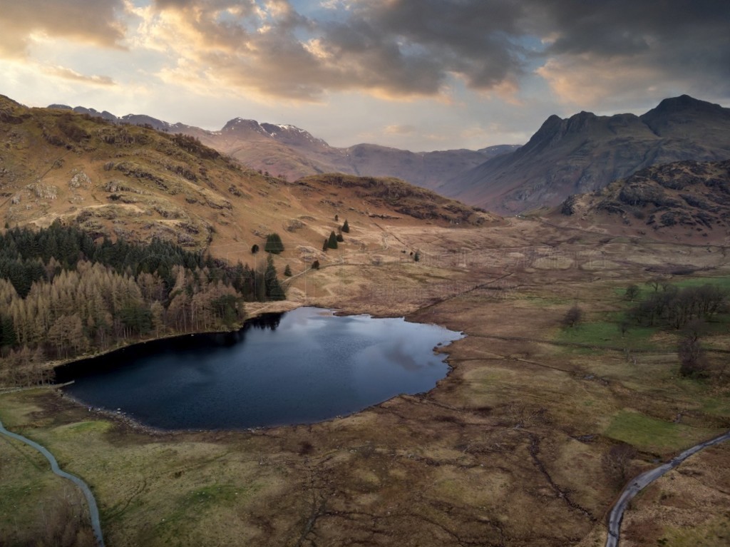
M558 0L541 12L536 31L547 46L537 74L564 102L730 93L727 2Z

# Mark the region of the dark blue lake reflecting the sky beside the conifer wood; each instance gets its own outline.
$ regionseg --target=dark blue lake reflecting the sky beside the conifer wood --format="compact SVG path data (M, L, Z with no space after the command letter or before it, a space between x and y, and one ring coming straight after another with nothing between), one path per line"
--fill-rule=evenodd
M59 367L64 391L161 429L309 424L362 410L443 378L440 326L301 307L238 332L139 344Z

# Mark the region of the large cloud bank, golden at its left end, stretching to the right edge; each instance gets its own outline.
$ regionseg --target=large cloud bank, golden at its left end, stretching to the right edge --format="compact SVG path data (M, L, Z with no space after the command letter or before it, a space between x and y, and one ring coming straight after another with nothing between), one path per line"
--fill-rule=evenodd
M148 23L156 47L178 56L163 77L261 98L445 98L463 83L507 99L538 74L562 100L593 104L631 80L635 93L652 78L726 86L725 4L347 0L320 2L337 16L315 20L287 0L155 0Z

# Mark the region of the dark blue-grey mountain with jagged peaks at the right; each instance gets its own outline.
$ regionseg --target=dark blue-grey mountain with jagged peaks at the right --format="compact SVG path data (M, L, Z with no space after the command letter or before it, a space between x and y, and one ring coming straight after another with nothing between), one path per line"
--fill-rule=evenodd
M453 177L437 191L514 214L557 205L652 165L726 158L730 109L683 95L641 116L550 116L522 148Z

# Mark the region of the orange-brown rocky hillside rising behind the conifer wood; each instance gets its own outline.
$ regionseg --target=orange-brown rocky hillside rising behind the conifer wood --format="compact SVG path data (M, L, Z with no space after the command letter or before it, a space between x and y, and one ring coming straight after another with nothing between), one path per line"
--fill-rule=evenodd
M465 226L494 219L399 181L370 177L362 183L366 194L356 192L349 179L339 187L328 177L287 183L243 167L194 137L69 110L28 109L5 97L0 142L0 221L8 227L48 226L58 218L98 237L159 237L242 256L253 244L263 248L269 232L286 234L293 248L318 250L322 238L337 229L338 213L343 221L349 216L361 238L375 218ZM408 194L411 210L378 196L391 195L395 186ZM372 229L380 242L380 229ZM312 255L300 254L296 259Z

